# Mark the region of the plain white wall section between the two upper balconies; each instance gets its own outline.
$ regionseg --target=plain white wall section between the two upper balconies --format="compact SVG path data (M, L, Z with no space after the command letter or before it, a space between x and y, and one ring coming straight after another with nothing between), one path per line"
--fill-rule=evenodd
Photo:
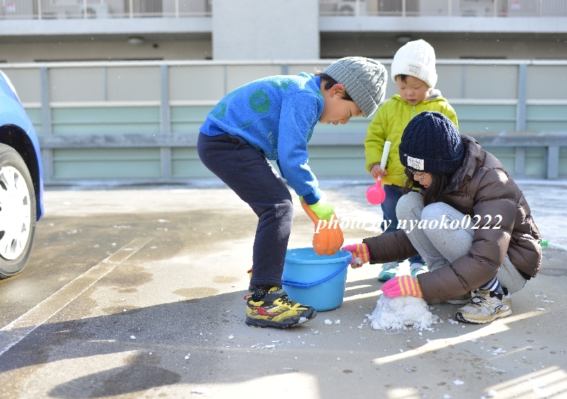
M318 59L318 21L316 0L213 0L213 59Z

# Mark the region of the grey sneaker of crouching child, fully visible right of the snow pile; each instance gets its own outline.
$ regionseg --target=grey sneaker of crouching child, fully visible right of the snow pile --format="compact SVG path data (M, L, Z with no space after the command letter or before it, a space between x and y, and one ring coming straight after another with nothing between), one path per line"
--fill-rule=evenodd
M455 320L460 322L471 322L473 324L485 324L500 317L512 314L512 300L507 295L494 293L493 291L477 290L466 305L459 308Z

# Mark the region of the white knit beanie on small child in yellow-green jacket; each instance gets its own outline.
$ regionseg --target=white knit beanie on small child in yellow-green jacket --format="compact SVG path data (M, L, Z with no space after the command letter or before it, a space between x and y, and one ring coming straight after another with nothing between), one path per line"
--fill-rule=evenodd
M404 74L417 77L423 82L434 87L437 83L437 72L435 72L435 51L425 40L414 40L405 43L394 55L392 61L391 77L395 83L395 77Z

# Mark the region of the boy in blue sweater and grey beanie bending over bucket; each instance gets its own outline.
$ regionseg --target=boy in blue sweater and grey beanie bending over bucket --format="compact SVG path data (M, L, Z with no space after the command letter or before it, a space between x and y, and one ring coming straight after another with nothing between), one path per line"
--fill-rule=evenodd
M317 315L281 289L293 204L268 159L276 160L281 176L318 218L330 220L334 209L308 166L308 141L318 122L344 125L371 116L384 99L387 80L379 62L346 57L320 74L245 84L208 113L198 137L199 157L258 216L250 281L256 290L247 297L247 325L292 327Z

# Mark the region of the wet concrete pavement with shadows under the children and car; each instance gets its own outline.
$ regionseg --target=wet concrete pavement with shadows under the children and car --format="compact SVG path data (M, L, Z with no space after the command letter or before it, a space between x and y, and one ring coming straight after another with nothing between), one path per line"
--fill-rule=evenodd
M339 217L381 218L365 184L323 186ZM307 247L313 223L295 206L289 247ZM48 189L45 208L30 263L0 281L1 398L567 398L561 250L489 325L434 305L433 332L372 330L381 283L366 265L349 269L340 308L256 329L242 299L256 221L232 191Z

